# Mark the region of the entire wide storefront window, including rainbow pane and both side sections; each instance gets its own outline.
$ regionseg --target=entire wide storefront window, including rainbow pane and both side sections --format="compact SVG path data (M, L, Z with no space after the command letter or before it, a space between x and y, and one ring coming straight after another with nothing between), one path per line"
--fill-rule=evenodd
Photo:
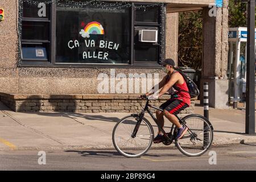
M159 65L164 36L161 6L129 3L105 9L97 3L72 7L73 1L58 2L20 1L21 65Z

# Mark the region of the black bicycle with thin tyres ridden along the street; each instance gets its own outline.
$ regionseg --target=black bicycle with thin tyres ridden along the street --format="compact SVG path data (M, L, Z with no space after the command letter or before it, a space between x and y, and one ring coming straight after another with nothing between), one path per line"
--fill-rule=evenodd
M146 154L150 149L154 139L154 130L151 123L144 117L146 111L162 131L162 143L164 145L168 146L175 140L176 147L182 154L187 156L200 156L209 149L213 141L213 126L207 118L199 114L189 114L184 118L179 118L175 114L181 125L188 127L188 131L183 138L175 139L177 127L172 124L170 133L166 133L164 129L160 128L155 116L148 107L160 111L163 110L150 105L148 97L144 98L147 101L141 113L131 114L122 118L113 129L112 141L119 154L127 158L138 158Z

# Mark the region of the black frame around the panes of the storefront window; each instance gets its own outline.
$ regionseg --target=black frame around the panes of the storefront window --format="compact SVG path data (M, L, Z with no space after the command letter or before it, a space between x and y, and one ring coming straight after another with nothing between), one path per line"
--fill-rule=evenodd
M165 59L165 41L166 41L166 34L165 26L166 26L166 15L163 14L163 9L166 8L166 4L164 6L159 5L159 22L152 23L152 22L135 22L135 6L136 5L155 5L156 3L140 3L140 2L131 2L132 6L130 7L130 14L131 14L131 32L130 32L130 64L93 64L93 63L55 63L55 55L56 55L56 4L51 3L49 4L49 26L50 26L50 35L49 35L49 61L24 61L20 58L19 66L20 67L50 67L50 68L160 68L161 65L159 64L161 61ZM160 10L162 9L162 11ZM162 14L161 14L162 12ZM162 17L163 16L163 17ZM33 18L22 18L22 20L33 19ZM39 21L45 20L44 18L36 18ZM22 21L19 21L22 22ZM162 23L162 26L160 24ZM159 55L158 61L135 61L135 54L134 54L134 26L139 24L141 26L158 26L159 27ZM162 27L162 30L160 30ZM160 34L161 32L161 34ZM22 42L22 40L20 40ZM20 43L21 44L21 43ZM160 46L161 45L161 46ZM21 52L21 49L19 50Z

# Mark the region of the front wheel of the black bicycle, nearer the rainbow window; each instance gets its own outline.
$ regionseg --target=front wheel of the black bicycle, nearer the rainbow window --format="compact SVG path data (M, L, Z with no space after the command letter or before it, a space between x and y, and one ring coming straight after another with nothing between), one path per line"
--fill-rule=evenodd
M137 124L137 117L129 115L122 118L113 130L112 140L119 154L127 158L138 158L151 147L154 130L150 122L143 118L135 137L131 137Z

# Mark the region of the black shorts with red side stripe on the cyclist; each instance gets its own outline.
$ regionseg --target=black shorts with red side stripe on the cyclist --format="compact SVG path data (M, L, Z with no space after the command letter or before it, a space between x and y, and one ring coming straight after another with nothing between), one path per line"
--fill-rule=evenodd
M180 100L168 100L164 102L164 104L160 105L160 109L167 110L171 114L179 114L181 110L184 110L188 107L183 101Z

